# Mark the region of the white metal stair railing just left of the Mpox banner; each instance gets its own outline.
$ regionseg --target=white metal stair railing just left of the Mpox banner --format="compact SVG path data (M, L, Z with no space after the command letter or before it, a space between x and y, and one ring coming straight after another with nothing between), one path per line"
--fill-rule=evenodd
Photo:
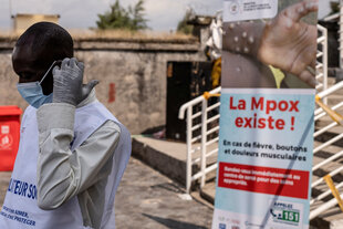
M217 87L209 94L220 92ZM217 157L219 140L219 106L220 102L211 96L199 96L184 104L179 110L179 118L185 118L187 111L187 166L186 191L190 192L191 183L200 179L200 188L205 186L207 174L217 169L217 160L208 165L209 157ZM194 173L194 165L200 169Z

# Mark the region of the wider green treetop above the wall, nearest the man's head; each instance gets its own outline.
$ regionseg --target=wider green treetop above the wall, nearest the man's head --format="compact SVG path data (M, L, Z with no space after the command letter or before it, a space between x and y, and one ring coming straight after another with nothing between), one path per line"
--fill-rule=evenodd
M132 31L147 29L147 20L144 18L144 0L138 0L134 7L129 6L127 10L121 6L119 0L116 0L110 8L110 11L104 14L97 14L97 29L125 29Z

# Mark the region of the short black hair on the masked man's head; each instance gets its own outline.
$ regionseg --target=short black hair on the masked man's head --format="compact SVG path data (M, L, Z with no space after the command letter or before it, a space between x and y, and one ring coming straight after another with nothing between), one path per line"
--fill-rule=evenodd
M50 50L55 59L72 58L74 43L62 27L51 22L31 25L17 41L15 46L32 45L35 51Z

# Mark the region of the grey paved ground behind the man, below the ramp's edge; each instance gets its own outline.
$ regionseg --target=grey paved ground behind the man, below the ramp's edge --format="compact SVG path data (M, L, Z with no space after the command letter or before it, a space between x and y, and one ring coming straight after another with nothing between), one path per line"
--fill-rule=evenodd
M10 173L0 173L0 206L9 179ZM116 228L210 228L211 207L184 200L183 194L180 185L132 157L116 195Z

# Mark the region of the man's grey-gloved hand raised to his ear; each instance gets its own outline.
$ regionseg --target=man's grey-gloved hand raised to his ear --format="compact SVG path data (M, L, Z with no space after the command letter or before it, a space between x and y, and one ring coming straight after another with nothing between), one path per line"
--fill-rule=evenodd
M61 67L53 69L53 103L67 103L76 106L89 96L98 81L82 84L84 65L75 58L64 59Z

